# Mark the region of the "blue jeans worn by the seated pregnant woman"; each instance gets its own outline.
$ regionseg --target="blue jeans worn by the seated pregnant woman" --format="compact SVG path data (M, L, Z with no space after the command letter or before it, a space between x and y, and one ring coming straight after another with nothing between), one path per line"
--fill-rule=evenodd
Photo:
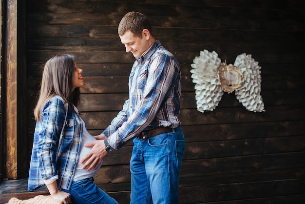
M73 204L117 204L117 202L93 183L93 178L73 182L70 190Z

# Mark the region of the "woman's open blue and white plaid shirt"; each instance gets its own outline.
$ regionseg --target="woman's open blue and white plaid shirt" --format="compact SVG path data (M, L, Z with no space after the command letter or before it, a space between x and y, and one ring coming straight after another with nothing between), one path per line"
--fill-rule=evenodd
M36 122L28 190L58 175L57 186L69 190L79 159L83 124L59 96L42 107Z

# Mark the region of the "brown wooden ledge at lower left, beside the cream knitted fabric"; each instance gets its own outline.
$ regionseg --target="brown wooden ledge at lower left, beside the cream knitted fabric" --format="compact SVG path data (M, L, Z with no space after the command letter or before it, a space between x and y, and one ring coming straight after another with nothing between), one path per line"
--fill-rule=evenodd
M0 183L0 204L8 203L11 198L27 200L37 195L50 195L46 186L35 191L27 191L27 179L7 180Z

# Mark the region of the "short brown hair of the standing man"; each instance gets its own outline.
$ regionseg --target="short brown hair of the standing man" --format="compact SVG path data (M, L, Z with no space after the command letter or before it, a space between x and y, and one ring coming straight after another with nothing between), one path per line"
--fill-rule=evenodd
M135 36L141 37L143 29L147 29L152 36L152 26L148 18L139 12L131 11L122 18L117 31L119 36L131 31Z

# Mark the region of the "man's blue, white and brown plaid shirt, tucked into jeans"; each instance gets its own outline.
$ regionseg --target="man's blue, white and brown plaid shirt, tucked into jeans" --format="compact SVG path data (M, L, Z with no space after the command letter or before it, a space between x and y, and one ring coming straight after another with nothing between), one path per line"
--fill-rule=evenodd
M179 62L160 41L136 58L129 99L103 132L110 146L117 150L143 130L180 126L180 78Z

